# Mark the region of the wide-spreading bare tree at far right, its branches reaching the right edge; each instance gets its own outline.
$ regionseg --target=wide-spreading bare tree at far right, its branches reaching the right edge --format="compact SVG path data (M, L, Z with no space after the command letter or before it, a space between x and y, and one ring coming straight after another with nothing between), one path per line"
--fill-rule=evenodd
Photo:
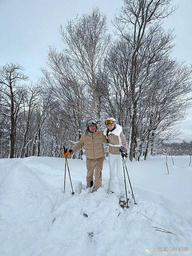
M145 151L164 140L176 138L181 132L178 124L191 106L192 69L172 59L161 59L150 74L150 86L140 99L140 145ZM138 111L139 112L139 111ZM138 119L138 120L139 120Z

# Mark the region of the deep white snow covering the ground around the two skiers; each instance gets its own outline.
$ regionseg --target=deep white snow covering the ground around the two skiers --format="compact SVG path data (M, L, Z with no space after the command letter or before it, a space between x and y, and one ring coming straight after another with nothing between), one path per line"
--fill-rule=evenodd
M85 160L68 160L72 196L68 173L63 193L64 159L0 159L0 255L140 256L158 254L154 247L192 251L192 163L189 167L189 158L177 157L173 166L169 158L168 175L165 162L164 157L126 162L137 205L132 200L122 210L117 183L116 193L107 194L108 161L103 186L90 193Z

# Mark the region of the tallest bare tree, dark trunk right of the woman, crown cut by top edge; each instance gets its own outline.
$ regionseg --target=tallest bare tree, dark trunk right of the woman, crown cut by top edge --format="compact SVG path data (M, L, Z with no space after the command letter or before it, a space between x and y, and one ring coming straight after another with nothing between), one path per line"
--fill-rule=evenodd
M125 0L119 16L115 18L114 25L120 35L132 46L130 93L132 104L131 116L131 145L129 158L132 161L135 150L135 134L137 119L137 99L140 94L140 86L137 90L137 58L143 44L145 33L155 21L160 21L170 15L174 8L170 9L171 0Z

